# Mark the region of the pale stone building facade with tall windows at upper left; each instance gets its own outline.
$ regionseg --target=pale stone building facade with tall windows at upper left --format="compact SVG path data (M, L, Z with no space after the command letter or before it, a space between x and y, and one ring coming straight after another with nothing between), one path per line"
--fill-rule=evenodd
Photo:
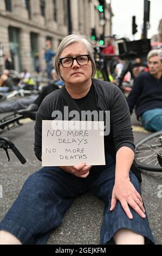
M56 51L60 41L69 33L69 11L72 32L90 38L92 28L103 32L98 0L0 0L0 47L14 60L15 70L26 68L34 72L45 68L45 42L51 40ZM70 6L70 8L69 8ZM111 33L109 5L105 8L105 34ZM1 49L0 49L1 50ZM0 51L2 54L2 51ZM0 56L0 68L4 68Z

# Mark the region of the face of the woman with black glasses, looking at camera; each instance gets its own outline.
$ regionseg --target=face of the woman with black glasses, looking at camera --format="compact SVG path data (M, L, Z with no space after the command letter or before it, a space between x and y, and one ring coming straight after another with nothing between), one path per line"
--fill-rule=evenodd
M88 54L85 45L81 42L74 42L73 44L64 48L60 58L64 57L77 57L83 54ZM88 62L87 65L79 65L74 60L73 65L69 68L63 68L60 64L60 74L66 86L73 86L74 84L90 83L92 76L92 63Z

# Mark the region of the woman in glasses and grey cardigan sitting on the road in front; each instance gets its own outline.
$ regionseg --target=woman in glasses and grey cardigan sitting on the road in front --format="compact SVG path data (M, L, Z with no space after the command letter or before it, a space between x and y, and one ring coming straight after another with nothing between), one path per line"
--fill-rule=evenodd
M0 243L46 243L50 231L61 224L74 199L86 192L93 192L105 201L101 244L154 243L140 184L132 172L135 146L124 95L114 84L92 79L93 46L85 36L72 34L62 40L55 70L65 86L49 94L38 109L35 124L38 160L42 160L42 120L54 120L58 115L61 120L72 120L73 111L77 113L75 120L76 117L82 120L85 112L88 121L105 120L106 164L89 166L79 160L75 166L43 167L29 176L0 224ZM107 111L111 115L110 124Z

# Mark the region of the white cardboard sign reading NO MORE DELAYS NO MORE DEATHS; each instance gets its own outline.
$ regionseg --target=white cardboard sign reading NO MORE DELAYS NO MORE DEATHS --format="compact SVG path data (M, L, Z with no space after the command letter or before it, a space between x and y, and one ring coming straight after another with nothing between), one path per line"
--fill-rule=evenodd
M42 166L105 165L103 121L42 121Z

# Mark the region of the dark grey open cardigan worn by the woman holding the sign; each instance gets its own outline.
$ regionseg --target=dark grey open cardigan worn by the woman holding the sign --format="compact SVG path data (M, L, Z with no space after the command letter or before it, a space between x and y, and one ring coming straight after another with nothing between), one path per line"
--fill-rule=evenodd
M107 136L110 153L116 153L121 147L128 147L134 151L134 139L131 126L129 108L121 90L113 83L92 79L100 110L110 111L110 134ZM42 101L38 109L35 123L34 150L38 160L42 156L42 120L53 120L51 114L55 110L63 109L63 97L60 90L50 93Z

